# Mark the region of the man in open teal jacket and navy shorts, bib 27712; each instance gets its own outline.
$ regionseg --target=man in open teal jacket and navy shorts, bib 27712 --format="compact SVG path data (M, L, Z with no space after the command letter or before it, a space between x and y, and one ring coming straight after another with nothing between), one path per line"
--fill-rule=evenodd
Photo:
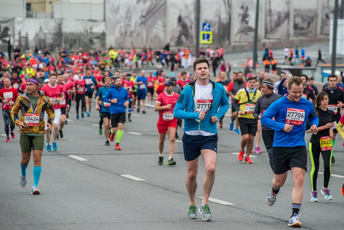
M196 176L198 158L202 154L206 173L203 180L203 200L199 211L203 220L211 221L212 215L208 206L208 198L215 180L216 123L227 112L229 102L224 87L209 80L210 67L206 59L196 60L193 67L197 80L184 87L175 105L173 115L176 118L185 119L183 136L184 159L187 167L185 184L190 197L187 218L197 219Z

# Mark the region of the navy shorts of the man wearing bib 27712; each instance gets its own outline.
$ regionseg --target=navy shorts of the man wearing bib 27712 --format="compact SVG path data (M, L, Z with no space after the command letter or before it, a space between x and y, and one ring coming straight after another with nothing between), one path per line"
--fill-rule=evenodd
M191 161L201 155L202 149L210 149L217 153L217 134L211 136L202 135L188 135L184 132L183 135L183 150L184 159Z

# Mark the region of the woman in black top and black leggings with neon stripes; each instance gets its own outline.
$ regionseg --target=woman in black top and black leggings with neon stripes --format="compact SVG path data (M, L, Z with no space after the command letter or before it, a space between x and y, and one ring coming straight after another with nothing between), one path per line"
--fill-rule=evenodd
M312 202L319 201L318 191L316 190L316 180L318 179L320 153L324 160L324 186L322 187L321 193L324 195L326 200L332 200L328 186L331 177L331 139L333 136L333 129L331 128L334 126L334 112L330 109L327 109L327 104L329 104L329 96L326 92L321 91L315 100L315 113L319 117L318 133L316 135L312 134L312 137L309 141L309 154L312 161ZM306 133L312 133L309 128L310 127L306 128L308 129Z

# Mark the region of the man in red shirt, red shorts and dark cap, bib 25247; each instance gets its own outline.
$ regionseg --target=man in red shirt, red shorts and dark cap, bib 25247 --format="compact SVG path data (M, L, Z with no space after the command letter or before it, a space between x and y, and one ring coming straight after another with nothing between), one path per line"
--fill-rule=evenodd
M165 82L165 92L158 95L155 101L154 111L159 111L158 132L159 132L159 161L158 165L163 164L163 151L166 132L170 135L169 146L169 161L167 165L175 165L173 160L173 152L175 148L175 133L178 124L178 119L173 117L173 109L177 103L179 94L173 92L174 84L172 81Z

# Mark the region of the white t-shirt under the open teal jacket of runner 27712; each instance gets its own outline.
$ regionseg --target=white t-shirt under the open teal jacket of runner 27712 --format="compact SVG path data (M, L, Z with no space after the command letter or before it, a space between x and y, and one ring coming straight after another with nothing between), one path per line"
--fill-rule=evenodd
M213 104L213 83L210 82L208 85L199 85L195 82L195 96L194 96L194 102L195 102L195 112L199 113L201 111L207 112L208 109L211 108ZM201 120L196 119L196 121L200 122ZM188 135L196 136L196 135L202 135L202 136L211 136L215 135L216 133L207 132L204 130L196 129L196 130L190 130L185 132Z

